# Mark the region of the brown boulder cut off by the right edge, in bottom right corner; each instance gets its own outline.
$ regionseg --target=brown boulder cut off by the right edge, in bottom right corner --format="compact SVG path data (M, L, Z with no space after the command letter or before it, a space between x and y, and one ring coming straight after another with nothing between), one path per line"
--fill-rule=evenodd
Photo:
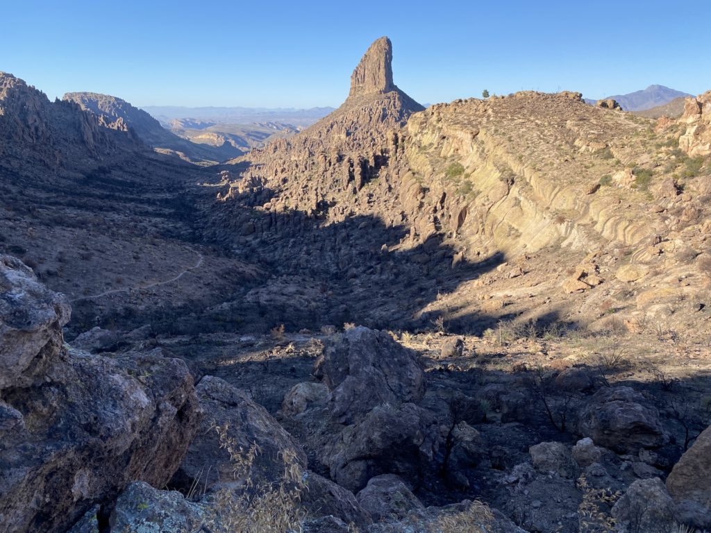
M674 465L666 487L682 522L711 527L711 426Z

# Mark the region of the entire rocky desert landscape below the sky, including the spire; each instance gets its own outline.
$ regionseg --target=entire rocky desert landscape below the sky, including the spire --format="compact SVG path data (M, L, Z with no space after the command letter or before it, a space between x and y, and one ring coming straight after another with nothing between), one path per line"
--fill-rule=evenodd
M0 72L0 532L711 529L711 91L392 54L160 120Z

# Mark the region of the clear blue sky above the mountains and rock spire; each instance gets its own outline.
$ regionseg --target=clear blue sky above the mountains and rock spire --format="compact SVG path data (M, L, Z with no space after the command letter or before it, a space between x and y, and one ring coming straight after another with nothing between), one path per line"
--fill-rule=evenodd
M371 41L419 102L535 89L711 89L711 1L2 2L0 70L52 98L338 106Z

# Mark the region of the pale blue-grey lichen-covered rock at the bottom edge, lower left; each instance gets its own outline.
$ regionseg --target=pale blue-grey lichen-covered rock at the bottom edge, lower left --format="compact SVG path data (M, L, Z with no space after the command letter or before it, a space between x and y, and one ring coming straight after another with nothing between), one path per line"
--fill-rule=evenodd
M209 517L203 505L189 502L180 492L137 481L119 496L109 524L119 533L198 533Z

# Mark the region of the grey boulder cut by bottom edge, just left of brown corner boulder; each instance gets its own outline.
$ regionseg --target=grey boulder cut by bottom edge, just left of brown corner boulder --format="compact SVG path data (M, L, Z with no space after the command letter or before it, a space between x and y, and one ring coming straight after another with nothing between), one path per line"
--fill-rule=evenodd
M674 505L659 478L637 480L612 507L621 532L668 533L674 525Z

